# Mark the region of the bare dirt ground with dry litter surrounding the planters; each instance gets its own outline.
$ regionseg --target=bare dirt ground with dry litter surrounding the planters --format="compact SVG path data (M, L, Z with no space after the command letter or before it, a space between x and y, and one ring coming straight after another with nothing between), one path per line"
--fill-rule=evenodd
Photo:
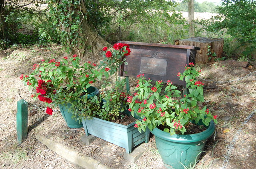
M36 106L43 106L32 100L32 91L20 81L20 74L31 73L33 64L40 63L41 59L63 56L67 54L57 45L44 48L16 47L0 51L0 168L81 168L36 140L36 134L41 134L74 148L82 155L93 157L110 168L164 169L154 136L151 136L150 143L143 144L146 151L134 164L124 159L123 148L99 138L89 146L84 145L81 141L84 134L82 128L70 130L59 112L49 116L33 106L29 107L28 138L21 145L17 144L17 101L23 98ZM218 126L216 133L206 142L205 152L194 169L222 169L226 154L229 162L227 169L255 169L256 113L242 124L256 110L255 62L251 62L247 68L222 66L218 62L196 66L202 70L200 78L206 83L204 104L212 114L218 115ZM230 148L227 148L228 145L231 145Z

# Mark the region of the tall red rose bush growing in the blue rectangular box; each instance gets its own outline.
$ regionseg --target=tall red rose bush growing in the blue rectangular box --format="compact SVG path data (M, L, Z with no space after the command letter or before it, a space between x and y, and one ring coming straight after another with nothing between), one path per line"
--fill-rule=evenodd
M100 61L100 72L104 72L104 85L100 92L100 96L94 96L94 98L87 100L85 106L80 105L79 109L84 117L97 117L103 120L117 120L120 116L120 112L127 109L126 104L126 92L124 91L125 79L118 77L118 68L122 64L126 64L125 56L130 55L130 49L128 44L116 43L113 46L114 49L108 50L104 47L102 50L103 61ZM108 81L110 77L115 77L115 83ZM105 89L108 88L108 89Z

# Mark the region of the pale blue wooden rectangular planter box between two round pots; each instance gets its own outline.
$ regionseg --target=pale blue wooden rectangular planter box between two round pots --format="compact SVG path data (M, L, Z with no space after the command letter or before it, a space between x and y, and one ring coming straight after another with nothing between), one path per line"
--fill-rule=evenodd
M126 114L130 114L125 110ZM135 122L125 126L114 122L108 122L99 118L86 118L82 120L86 136L90 134L118 145L126 149L126 153L131 153L132 148L145 141L149 141L149 130L139 132L134 128Z

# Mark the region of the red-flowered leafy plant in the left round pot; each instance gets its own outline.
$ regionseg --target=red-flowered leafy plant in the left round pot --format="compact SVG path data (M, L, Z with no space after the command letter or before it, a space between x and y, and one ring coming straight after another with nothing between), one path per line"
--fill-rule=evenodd
M36 90L32 97L45 102L46 113L52 114L52 106L58 104L71 103L73 108L78 100L83 98L87 88L94 82L95 78L100 78L102 73L96 70L96 64L80 64L81 59L73 55L70 59L64 57L61 61L50 59L42 60L40 64L34 64L34 72L30 75L21 75L20 79L29 89ZM75 112L76 115L76 112Z

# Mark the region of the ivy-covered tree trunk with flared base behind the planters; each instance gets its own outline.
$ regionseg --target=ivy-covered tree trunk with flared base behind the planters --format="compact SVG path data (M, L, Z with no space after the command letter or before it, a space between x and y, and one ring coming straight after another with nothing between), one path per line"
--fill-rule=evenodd
M60 34L62 36L62 43L64 46L69 47L73 54L80 57L94 57L98 55L104 46L109 44L98 35L96 29L94 29L88 23L89 18L88 11L84 0L80 1L80 4L62 4L62 1L52 1L54 6L54 16L58 18L60 24ZM60 4L62 8L60 8ZM66 5L66 6L65 6ZM72 15L72 13L75 15ZM77 17L80 17L80 23L77 24ZM64 18L64 19L63 19ZM76 22L76 24L74 24ZM74 32L74 27L78 27L78 31ZM72 36L72 38L70 38Z

